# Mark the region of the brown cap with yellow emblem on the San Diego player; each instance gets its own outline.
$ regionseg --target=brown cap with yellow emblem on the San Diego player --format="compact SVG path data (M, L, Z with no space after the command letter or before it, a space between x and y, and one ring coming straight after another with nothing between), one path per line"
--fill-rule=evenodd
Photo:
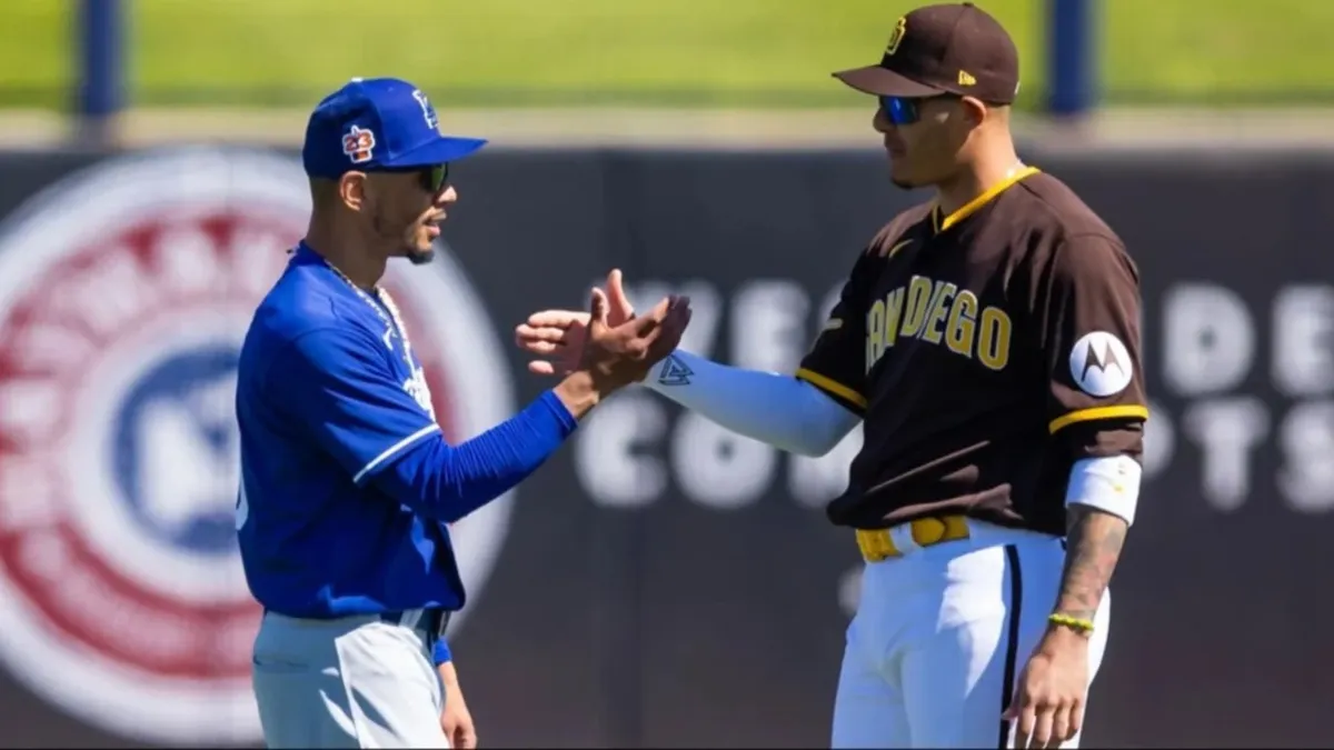
M1005 27L972 3L924 5L899 19L879 65L834 76L878 96L958 93L1011 104L1019 52Z

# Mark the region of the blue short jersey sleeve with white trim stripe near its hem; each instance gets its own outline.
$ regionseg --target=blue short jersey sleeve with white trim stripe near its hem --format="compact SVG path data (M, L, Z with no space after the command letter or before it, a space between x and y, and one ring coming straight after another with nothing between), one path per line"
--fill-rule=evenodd
M359 484L440 430L398 383L383 344L358 330L320 328L291 342L269 370L269 390Z

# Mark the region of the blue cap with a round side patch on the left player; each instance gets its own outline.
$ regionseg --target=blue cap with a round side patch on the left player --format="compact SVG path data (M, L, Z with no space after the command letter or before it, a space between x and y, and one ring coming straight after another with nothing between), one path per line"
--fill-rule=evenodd
M440 119L420 88L400 79L352 79L325 96L305 125L301 163L312 177L352 169L434 167L456 161L486 139L440 135Z

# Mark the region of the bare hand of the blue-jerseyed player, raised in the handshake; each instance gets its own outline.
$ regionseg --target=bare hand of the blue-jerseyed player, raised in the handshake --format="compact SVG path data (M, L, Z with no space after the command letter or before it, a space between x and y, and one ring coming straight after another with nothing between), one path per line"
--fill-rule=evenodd
M576 370L588 372L602 395L643 380L680 344L690 315L690 298L671 295L648 312L612 324L607 294L594 288Z

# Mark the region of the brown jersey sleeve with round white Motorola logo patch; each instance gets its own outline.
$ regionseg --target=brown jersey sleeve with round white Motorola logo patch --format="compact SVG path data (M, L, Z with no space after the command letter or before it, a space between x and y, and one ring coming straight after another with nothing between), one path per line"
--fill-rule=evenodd
M1142 452L1149 419L1139 275L1113 239L1067 239L1039 284L1047 430L1070 458Z

